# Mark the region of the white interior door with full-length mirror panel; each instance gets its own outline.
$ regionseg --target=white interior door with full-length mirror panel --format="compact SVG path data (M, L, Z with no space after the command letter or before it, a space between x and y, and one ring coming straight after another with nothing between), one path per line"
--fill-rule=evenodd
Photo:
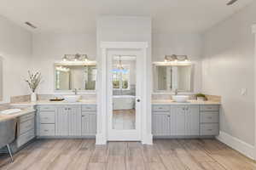
M108 140L141 140L141 56L136 50L108 53Z

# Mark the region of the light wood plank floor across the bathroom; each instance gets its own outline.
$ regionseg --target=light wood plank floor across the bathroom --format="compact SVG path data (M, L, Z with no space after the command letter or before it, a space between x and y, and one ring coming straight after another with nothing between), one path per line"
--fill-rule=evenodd
M0 169L54 170L247 170L255 162L215 139L154 140L154 145L94 139L42 139L15 154L0 156Z

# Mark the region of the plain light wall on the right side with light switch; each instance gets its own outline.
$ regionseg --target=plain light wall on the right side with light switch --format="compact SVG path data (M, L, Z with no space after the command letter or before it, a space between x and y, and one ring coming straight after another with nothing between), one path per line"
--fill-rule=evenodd
M202 90L221 95L220 130L254 144L254 37L256 2L206 31ZM247 94L241 95L241 89Z

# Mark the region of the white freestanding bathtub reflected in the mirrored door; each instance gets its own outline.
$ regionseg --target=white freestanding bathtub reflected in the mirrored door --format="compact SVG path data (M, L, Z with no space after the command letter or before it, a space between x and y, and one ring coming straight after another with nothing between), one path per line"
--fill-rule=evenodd
M135 96L114 95L113 110L129 110L135 108Z

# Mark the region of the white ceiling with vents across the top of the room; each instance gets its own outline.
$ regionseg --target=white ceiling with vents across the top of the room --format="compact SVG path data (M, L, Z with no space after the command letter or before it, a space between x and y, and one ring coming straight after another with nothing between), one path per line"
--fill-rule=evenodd
M100 14L151 16L153 31L200 32L253 0L0 0L0 14L31 31L95 32ZM24 25L29 21L38 29Z

